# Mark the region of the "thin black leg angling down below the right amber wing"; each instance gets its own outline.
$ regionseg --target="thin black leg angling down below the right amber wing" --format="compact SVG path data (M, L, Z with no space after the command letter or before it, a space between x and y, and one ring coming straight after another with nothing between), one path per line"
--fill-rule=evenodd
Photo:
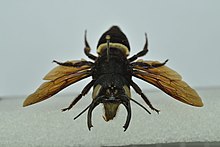
M133 81L130 81L131 86L134 88L135 92L137 92L145 101L145 103L154 111L156 111L157 113L160 112L160 110L156 109L153 107L153 105L150 103L150 101L148 100L148 98L143 94L141 88L134 83Z

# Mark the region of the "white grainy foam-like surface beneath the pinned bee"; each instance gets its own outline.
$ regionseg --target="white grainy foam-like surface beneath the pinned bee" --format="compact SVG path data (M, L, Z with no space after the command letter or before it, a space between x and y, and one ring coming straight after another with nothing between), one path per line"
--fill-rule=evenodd
M152 104L161 113L147 114L132 103L132 120L126 132L123 124L127 112L120 107L113 121L102 119L102 107L93 112L91 131L87 114L73 120L90 103L84 97L69 112L62 113L77 94L58 95L42 103L23 108L25 97L0 100L0 146L101 146L151 144L167 142L220 141L220 88L198 90L204 107L185 105L162 92L147 92ZM133 94L142 104L139 96Z

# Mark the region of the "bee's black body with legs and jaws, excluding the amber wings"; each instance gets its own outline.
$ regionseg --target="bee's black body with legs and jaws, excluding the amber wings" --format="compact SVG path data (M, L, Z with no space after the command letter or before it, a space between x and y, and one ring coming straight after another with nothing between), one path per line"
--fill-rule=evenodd
M109 43L107 43L108 40L106 39L106 36L110 37ZM139 104L137 101L131 98L130 86L132 86L134 90L149 105L149 107L159 113L159 110L155 109L151 105L150 101L142 93L142 90L139 88L139 86L132 81L133 69L131 63L132 61L136 60L138 57L141 57L148 52L147 37L146 37L146 43L144 49L130 58L127 58L130 52L128 39L117 26L111 27L100 38L97 46L97 53L99 54L98 57L90 54L90 47L86 40L86 36L85 36L85 44L86 44L85 47L86 55L90 59L95 61L91 68L91 76L93 80L83 89L79 97L77 97L69 107L63 109L63 111L71 109L72 106L75 105L76 102L78 102L78 100L83 95L85 95L89 91L89 89L93 86L94 87L93 102L85 109L85 110L89 109L88 112L89 129L92 127L92 123L91 123L92 110L98 104L103 103L105 110L104 119L106 121L112 120L115 117L118 106L120 104L123 104L125 106L128 115L127 115L126 123L123 127L126 130L129 126L129 122L131 119L130 100L140 105L150 114L150 112L145 107L143 107L141 104ZM64 64L59 63L59 64L65 66L65 63ZM84 64L82 65L86 65L86 64L91 64L91 62L84 62ZM158 66L162 66L162 65L163 64L158 64ZM149 66L149 65L145 65L145 66ZM85 112L85 110L83 112Z

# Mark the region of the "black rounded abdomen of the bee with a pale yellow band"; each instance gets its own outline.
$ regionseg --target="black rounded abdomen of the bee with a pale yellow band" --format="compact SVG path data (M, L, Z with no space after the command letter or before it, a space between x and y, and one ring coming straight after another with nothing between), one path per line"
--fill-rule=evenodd
M101 55L108 48L107 38L109 37L109 47L111 49L119 49L125 56L129 55L130 45L128 39L118 26L112 26L99 39L97 45L97 53L99 55Z

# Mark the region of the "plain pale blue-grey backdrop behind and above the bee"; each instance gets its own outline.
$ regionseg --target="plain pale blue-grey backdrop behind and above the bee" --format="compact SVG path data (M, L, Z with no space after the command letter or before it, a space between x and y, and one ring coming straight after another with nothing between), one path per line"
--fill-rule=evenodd
M146 60L164 61L193 87L220 86L218 0L0 0L0 96L26 95L55 65L86 58L84 30L95 53L100 35L119 25L131 55L144 45ZM80 91L84 80L65 92ZM143 89L152 88L137 82Z

